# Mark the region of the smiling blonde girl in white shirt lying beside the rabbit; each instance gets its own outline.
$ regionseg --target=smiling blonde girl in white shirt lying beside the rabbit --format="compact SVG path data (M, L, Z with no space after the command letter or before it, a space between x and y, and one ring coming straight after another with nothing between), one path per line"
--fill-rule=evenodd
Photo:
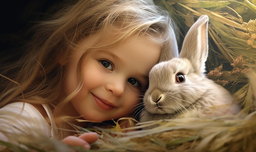
M97 134L65 131L69 123L88 123L59 118L129 116L149 70L177 56L173 28L151 0L79 0L64 7L37 26L19 61L0 70L0 138L15 142L12 134L36 128L35 135L90 148Z

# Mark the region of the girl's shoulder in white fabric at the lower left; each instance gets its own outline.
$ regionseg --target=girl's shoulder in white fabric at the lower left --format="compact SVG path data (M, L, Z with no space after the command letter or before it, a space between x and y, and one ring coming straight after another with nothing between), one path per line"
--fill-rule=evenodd
M42 105L43 107L45 105ZM51 117L49 109L45 108L48 118ZM44 115L44 114L43 114ZM41 112L32 104L24 102L14 102L0 108L0 125L9 128L11 132L20 134L16 128L24 130L40 130L47 137L52 137L51 123L48 123ZM5 124L5 125L3 125ZM1 131L1 130L0 130Z

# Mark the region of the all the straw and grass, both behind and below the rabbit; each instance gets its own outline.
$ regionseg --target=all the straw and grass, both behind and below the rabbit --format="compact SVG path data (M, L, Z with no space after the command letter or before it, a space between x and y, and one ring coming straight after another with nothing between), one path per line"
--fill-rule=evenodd
M179 28L180 42L203 14L209 16L208 77L229 90L243 109L238 115L200 118L192 112L178 119L137 123L135 129L161 124L150 130L123 133L118 122L112 129L95 127L101 140L88 152L255 152L256 151L256 1L252 0L155 0ZM90 130L79 128L83 132ZM112 137L109 134L115 134ZM31 136L20 143L38 151L59 151L64 144ZM42 140L45 143L42 147ZM10 143L6 150L22 151ZM13 149L16 148L16 149ZM26 151L26 150L25 150Z

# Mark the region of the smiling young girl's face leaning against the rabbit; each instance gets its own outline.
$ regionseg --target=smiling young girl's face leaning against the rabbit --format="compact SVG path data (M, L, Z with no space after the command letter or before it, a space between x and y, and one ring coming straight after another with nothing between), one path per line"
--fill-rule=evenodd
M77 88L79 59L98 36L82 41L67 64L65 95ZM143 37L92 51L83 61L83 86L67 104L66 114L97 122L127 116L142 98L141 91L147 87L148 73L157 64L160 52L159 43Z

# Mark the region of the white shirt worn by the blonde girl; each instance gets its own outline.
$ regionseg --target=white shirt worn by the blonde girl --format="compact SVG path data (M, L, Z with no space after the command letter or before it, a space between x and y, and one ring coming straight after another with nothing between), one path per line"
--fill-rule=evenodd
M22 135L29 134L35 137L54 137L55 123L47 105L45 109L51 125L43 115L31 104L14 102L0 109L0 140L17 143ZM18 135L18 136L17 136ZM1 148L0 148L1 149Z

